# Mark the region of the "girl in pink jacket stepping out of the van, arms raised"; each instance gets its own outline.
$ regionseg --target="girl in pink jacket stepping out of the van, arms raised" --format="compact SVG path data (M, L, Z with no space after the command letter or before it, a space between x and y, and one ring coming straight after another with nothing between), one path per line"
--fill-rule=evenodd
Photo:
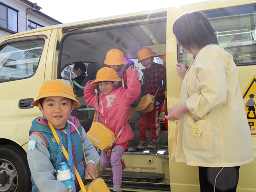
M103 167L112 168L113 192L120 192L122 183L122 169L125 168L122 162L124 151L128 150L128 141L134 138L132 128L128 123L130 116L130 104L140 96L140 80L135 65L127 70L127 89L120 87L116 89L116 83L121 81L115 70L104 67L98 70L96 80L88 81L84 88L84 99L86 103L96 109L98 122L105 124L117 137L112 154L107 156L107 151L102 150L100 163ZM95 88L99 86L99 94L95 94ZM97 106L98 100L98 106Z

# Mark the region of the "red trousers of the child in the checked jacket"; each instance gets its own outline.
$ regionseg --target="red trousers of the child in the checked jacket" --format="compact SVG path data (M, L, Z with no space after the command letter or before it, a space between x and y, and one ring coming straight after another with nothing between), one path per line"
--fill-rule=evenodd
M137 123L137 126L139 128L139 139L144 140L147 142L147 126L149 122L149 126L151 128L151 140L154 142L159 142L159 122L158 122L158 117L159 117L159 109L161 108L161 104L159 101L156 101L154 104L154 110L149 113L142 113L140 114L140 121Z

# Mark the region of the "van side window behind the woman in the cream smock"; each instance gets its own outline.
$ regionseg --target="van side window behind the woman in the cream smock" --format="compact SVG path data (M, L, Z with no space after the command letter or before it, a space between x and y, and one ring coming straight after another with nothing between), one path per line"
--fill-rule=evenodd
M232 14L227 12L227 10L205 13L216 32L219 45L233 56L237 66L256 63L256 33L254 19L256 18L256 12L234 14L236 12L244 11L237 11L234 9L232 10ZM195 55L184 53L184 50L180 46L178 47L178 53L179 62L186 66L189 66L192 58L195 57Z

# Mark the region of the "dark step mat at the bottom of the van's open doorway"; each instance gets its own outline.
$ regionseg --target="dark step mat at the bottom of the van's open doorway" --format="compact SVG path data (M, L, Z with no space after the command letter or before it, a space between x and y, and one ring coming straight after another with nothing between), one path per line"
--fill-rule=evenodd
M110 180L112 177L112 171L104 171L100 174L103 179ZM164 174L161 173L150 173L150 172L132 172L123 171L122 180L123 181L139 181L139 182L159 182L164 178Z

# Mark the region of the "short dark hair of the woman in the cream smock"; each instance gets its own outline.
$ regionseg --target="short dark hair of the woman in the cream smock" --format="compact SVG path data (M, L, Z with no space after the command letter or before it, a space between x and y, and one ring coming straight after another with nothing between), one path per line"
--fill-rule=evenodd
M172 31L180 46L190 50L202 49L208 44L218 44L214 29L202 12L192 11L180 16Z

